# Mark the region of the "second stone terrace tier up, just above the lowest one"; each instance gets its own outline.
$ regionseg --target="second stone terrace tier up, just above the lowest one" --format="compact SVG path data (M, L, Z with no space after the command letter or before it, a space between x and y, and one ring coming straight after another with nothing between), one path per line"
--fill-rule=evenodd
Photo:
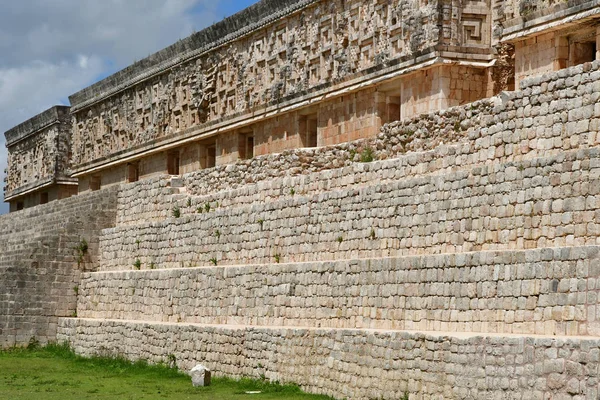
M97 272L88 318L600 335L600 247ZM147 268L147 266L143 266Z

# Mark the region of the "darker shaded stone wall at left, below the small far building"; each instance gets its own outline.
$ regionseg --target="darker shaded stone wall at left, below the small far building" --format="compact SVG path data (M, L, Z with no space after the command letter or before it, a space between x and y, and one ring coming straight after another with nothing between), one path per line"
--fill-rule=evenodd
M0 347L56 340L58 318L76 312L81 272L98 267L98 235L115 224L117 189L0 217Z

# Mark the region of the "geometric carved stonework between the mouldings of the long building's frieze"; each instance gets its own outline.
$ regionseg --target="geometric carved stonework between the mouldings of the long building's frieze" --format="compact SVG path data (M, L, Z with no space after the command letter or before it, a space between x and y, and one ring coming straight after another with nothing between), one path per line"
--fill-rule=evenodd
M309 90L359 79L441 44L483 45L490 24L486 15L478 14L485 10L485 1L469 6L472 14L464 27L460 5L450 6L443 11L448 18L440 19L442 8L422 0L288 3L273 7L284 14L301 9L264 22L264 28L236 36L225 46L202 41L202 35L223 28L217 24L209 33L166 49L163 53L175 52L180 60L172 68L146 67L162 53L133 65L120 73L121 81L150 77L136 84L131 78L132 83L119 93L109 96L117 82L107 81L72 96L75 169L190 128L300 99ZM232 34L238 34L235 18L227 31ZM451 34L440 37L440 29ZM177 46L190 48L177 53ZM188 57L201 46L204 53Z

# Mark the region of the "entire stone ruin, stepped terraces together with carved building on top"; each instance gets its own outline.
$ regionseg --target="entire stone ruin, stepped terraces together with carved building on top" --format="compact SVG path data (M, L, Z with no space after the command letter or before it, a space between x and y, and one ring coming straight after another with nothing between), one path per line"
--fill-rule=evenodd
M78 195L0 217L0 343L340 399L598 398L598 18L263 0L74 94L45 154Z

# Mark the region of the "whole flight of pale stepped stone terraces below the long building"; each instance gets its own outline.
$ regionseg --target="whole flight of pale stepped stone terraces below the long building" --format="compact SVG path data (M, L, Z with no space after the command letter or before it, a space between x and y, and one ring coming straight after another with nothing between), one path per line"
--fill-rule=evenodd
M433 150L123 188L58 339L336 398L597 399L597 130L528 107L581 73Z

